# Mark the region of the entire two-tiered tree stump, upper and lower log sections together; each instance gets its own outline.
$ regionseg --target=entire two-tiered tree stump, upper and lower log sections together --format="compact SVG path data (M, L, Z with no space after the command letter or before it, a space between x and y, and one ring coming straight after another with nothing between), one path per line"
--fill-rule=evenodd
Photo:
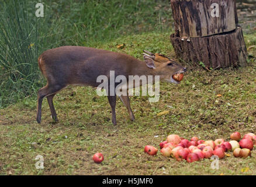
M235 0L171 0L175 34L171 43L181 61L207 68L244 66L247 49Z

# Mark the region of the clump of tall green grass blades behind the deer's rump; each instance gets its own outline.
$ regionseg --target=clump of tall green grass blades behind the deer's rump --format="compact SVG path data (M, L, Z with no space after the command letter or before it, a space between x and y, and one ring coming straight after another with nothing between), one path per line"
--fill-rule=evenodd
M37 18L33 1L0 1L0 108L42 86L37 58L53 42L49 19Z

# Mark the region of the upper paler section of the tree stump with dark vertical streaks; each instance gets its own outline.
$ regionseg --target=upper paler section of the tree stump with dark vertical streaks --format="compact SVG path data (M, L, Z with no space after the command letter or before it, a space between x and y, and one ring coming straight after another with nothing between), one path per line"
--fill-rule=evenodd
M211 5L219 5L219 17L212 17ZM171 0L175 33L181 37L203 37L236 29L234 0Z

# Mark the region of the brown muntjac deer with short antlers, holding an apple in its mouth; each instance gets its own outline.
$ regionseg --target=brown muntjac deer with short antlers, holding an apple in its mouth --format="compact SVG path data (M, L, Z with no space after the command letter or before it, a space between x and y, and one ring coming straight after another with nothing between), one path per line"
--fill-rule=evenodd
M123 75L126 78L130 75L158 75L160 80L179 84L186 68L161 54L144 52L148 54L144 53L144 61L141 61L123 53L90 47L63 46L45 51L38 59L39 68L47 79L47 85L38 92L37 123L41 122L41 104L44 97L47 97L51 116L57 122L57 114L53 106L53 97L57 92L68 85L98 87L101 82L96 81L97 77L105 75L109 78L110 71L115 71L115 76ZM182 78L177 79L177 75L182 75ZM108 89L108 101L112 110L112 122L115 125L116 94L110 95L110 91ZM118 96L126 106L130 119L134 120L129 96Z

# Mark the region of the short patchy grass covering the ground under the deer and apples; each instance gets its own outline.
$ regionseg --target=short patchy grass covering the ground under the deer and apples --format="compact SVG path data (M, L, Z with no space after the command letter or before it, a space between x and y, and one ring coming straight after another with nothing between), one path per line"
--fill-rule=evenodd
M251 39L245 36L247 46L254 44ZM124 49L117 49L122 43ZM131 34L95 47L137 58L143 49L174 53L168 32ZM255 49L250 53L255 54ZM117 126L111 123L108 99L96 95L91 87L69 87L56 95L58 123L52 122L46 99L41 124L36 123L36 99L23 99L0 109L0 174L255 175L255 148L252 158L234 158L230 153L220 161L219 169L212 169L207 159L188 164L143 152L147 144L158 147L168 134L229 140L233 131L256 133L255 72L254 59L237 70L188 71L180 85L161 83L157 103L149 103L145 96L131 97L135 122L130 122L118 99ZM169 113L157 116L165 110ZM102 164L92 161L98 151L105 157ZM43 155L44 169L35 168L37 155Z

